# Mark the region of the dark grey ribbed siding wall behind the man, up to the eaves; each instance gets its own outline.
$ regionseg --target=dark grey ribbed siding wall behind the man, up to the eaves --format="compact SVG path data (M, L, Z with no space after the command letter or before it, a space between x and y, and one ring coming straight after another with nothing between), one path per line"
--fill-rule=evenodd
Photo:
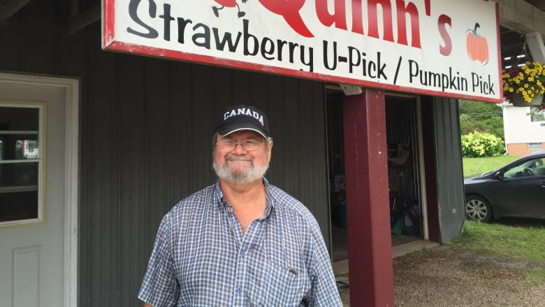
M323 84L103 52L99 23L67 34L68 1L52 2L31 1L0 27L0 70L80 78L80 306L140 306L161 217L214 183L213 127L234 103L268 112L268 178L329 242Z

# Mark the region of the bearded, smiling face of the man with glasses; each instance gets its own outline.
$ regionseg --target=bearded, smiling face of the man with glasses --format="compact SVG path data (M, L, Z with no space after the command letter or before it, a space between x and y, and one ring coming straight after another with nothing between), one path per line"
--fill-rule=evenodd
M226 148L221 141L254 141L259 145L256 150L248 151L237 144L234 149ZM273 141L268 145L261 134L252 130L241 130L233 132L228 136L217 136L216 148L214 150L214 170L220 179L233 183L245 184L263 178L269 162L270 152L273 148Z

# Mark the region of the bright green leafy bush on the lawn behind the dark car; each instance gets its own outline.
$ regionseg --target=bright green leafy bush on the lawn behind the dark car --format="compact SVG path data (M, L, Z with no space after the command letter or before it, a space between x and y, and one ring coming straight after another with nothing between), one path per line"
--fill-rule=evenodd
M504 142L492 134L474 131L462 136L463 157L495 157L504 152Z

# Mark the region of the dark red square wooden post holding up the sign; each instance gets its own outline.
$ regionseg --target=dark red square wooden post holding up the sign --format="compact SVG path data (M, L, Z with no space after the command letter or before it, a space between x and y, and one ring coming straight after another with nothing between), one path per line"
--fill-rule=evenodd
M384 92L344 97L351 306L393 306Z

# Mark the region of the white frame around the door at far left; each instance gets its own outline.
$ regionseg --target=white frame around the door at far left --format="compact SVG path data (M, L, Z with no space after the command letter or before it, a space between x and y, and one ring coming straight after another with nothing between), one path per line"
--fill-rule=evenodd
M64 307L78 304L80 79L0 72L0 83L60 87L66 91L64 135Z

